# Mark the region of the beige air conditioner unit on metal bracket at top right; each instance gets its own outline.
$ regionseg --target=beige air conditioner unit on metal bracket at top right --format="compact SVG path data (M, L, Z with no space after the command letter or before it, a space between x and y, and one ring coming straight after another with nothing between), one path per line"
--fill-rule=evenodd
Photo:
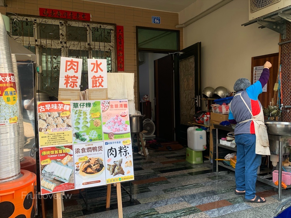
M290 5L291 0L249 0L249 21Z

